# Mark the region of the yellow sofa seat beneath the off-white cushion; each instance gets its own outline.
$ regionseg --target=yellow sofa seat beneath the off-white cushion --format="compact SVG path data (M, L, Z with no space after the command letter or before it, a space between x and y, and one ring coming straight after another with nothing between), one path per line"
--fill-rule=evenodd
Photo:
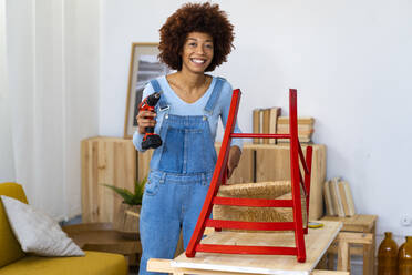
M85 252L84 257L27 256L0 268L0 275L127 275L123 255Z

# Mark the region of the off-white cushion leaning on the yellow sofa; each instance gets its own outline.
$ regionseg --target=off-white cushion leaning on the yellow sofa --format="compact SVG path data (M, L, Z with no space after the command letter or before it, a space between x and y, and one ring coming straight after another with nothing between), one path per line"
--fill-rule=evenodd
M9 196L1 196L21 248L40 256L84 256L82 249L47 214Z

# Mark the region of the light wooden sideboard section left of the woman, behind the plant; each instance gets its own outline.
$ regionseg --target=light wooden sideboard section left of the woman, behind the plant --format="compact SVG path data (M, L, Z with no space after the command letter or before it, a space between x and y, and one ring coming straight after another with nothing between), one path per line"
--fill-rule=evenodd
M136 151L131 140L91 138L81 143L82 221L113 222L122 198L103 184L134 190Z

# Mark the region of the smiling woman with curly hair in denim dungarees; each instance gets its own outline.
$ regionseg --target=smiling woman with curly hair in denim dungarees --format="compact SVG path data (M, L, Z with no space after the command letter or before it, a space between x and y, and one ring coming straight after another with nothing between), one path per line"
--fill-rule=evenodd
M233 89L206 74L226 61L234 40L233 26L217 4L187 3L161 28L159 59L175 73L151 81L143 98L162 91L156 113L142 111L133 143L142 150L145 128L154 126L163 145L156 149L145 186L140 221L143 254L172 258L179 232L184 247L196 226L217 160L214 147L219 118L226 125ZM240 132L235 126L235 132ZM231 143L230 176L240 159L240 140Z

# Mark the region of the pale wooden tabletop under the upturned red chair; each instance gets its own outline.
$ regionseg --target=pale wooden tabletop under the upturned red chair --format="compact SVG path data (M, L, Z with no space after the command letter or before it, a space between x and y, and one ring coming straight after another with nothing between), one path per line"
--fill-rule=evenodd
M320 228L309 228L308 235L305 235L306 263L298 263L296 256L196 253L193 258L182 254L172 262L172 266L248 274L309 275L342 227L341 222L323 224ZM295 236L292 233L214 232L202 243L295 246Z

